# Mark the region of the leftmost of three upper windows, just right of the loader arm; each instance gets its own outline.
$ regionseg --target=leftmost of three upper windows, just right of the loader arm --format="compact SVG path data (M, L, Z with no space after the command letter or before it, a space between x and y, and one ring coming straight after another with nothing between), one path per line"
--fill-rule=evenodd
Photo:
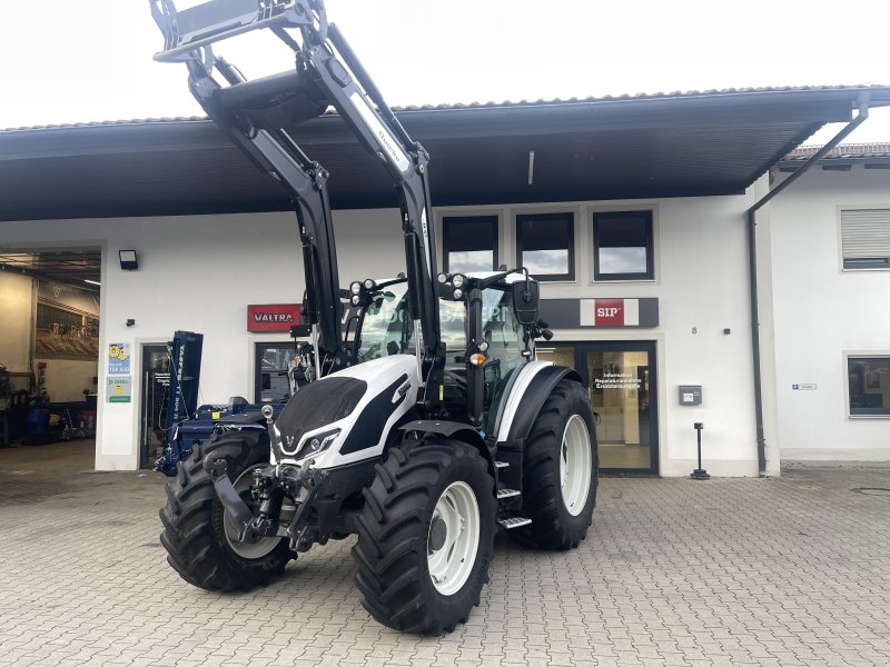
M497 216L444 218L442 257L451 273L497 269Z

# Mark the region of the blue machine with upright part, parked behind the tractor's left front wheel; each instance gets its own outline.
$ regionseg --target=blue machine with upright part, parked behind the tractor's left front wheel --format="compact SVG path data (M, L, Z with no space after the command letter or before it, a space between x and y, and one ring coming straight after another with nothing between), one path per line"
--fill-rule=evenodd
M177 331L169 344L170 392L165 425L164 456L155 461L155 471L175 477L179 461L186 460L195 447L231 428L256 425L266 428L260 414L261 405L249 404L235 396L226 405L198 406L198 387L201 370L204 336L191 331ZM274 416L285 407L271 404Z

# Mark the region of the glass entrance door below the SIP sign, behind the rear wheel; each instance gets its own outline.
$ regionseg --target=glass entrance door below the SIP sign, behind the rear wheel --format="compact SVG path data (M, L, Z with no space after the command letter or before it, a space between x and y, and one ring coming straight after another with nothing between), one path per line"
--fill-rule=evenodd
M654 342L547 345L537 358L574 368L587 386L603 471L657 474Z

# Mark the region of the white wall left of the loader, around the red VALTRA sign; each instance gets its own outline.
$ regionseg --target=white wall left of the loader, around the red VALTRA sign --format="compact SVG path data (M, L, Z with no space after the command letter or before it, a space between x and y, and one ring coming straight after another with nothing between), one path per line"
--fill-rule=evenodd
M387 273L404 270L395 210L343 211L335 220L342 238L342 282L378 276L379 267ZM166 342L177 329L201 332L200 402L250 396L254 342L287 337L248 334L247 305L303 298L303 258L293 213L3 222L2 230L8 247L34 247L47 239L55 247L102 247L98 469L138 466L142 344ZM121 249L137 251L139 270L120 269ZM0 299L6 291L0 289ZM136 320L135 326L127 327L127 319ZM131 346L130 404L105 402L105 351L111 342ZM26 334L22 349L27 348Z

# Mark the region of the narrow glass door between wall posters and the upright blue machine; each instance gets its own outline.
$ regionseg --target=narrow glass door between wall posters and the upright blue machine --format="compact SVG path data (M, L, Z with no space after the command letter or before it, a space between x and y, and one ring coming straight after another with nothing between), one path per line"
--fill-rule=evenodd
M150 468L164 455L164 429L170 391L170 354L166 345L142 346L139 467Z

